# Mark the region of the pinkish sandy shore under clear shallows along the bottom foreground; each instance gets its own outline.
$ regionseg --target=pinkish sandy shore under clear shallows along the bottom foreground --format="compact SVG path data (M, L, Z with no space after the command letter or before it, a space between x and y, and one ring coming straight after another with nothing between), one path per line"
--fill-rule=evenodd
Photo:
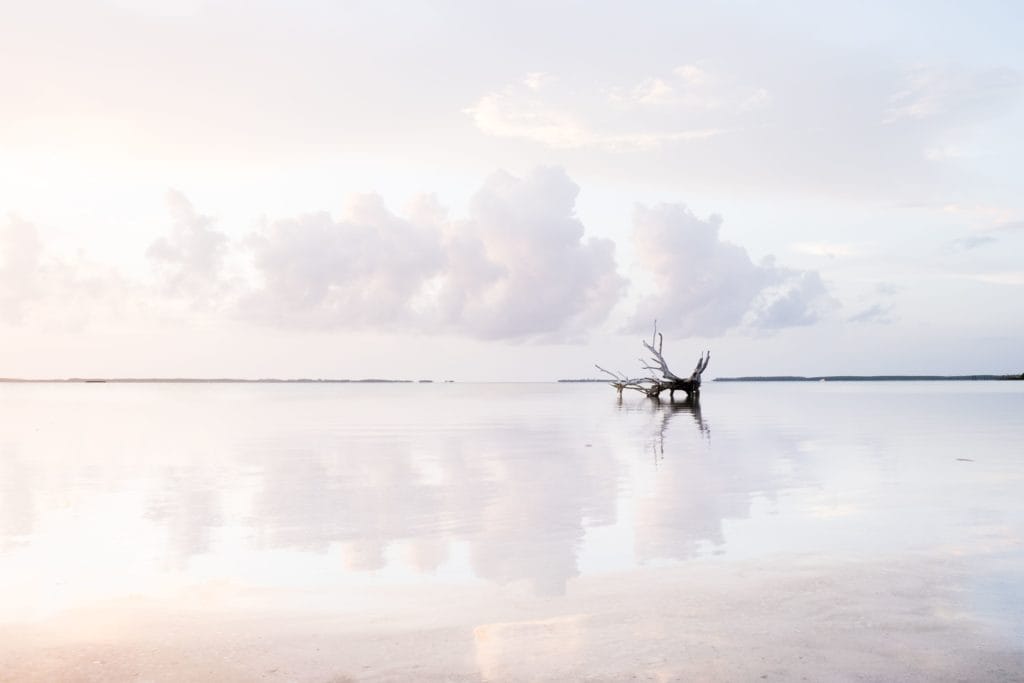
M958 571L694 563L577 580L556 599L410 587L370 620L125 600L6 626L0 680L1021 680L1020 634L968 616Z

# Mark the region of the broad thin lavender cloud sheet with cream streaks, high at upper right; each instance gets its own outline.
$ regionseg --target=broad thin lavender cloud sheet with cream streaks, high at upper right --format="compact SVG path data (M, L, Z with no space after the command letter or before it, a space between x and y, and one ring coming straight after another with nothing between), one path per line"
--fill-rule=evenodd
M999 117L1024 90L1018 70L908 69L746 38L633 78L566 72L498 84L464 111L484 134L634 180L929 205L982 181L965 160L994 152L991 125L1013 132Z

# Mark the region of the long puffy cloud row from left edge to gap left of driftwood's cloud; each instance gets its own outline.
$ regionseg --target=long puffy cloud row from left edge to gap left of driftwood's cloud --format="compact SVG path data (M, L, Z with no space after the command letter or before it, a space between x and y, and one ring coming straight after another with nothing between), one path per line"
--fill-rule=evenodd
M364 195L340 217L303 214L231 241L170 191L169 229L145 252L156 287L46 257L35 226L11 218L0 230L0 319L82 325L128 303L177 316L184 303L283 329L580 340L603 324L627 283L614 244L586 236L578 194L561 169L499 172L458 219L431 198L398 215Z

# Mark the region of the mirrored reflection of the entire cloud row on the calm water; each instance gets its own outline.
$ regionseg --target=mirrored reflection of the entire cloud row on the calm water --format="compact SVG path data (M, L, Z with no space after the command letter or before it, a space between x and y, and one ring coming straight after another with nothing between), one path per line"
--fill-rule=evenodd
M440 394L458 400L437 405L399 390L369 405L361 396L293 404L256 393L251 410L181 414L172 402L178 413L136 434L135 447L96 439L89 458L0 460L0 544L34 532L33 497L42 510L38 501L71 482L75 505L102 510L109 500L125 506L123 518L141 512L157 527L165 570L215 555L223 540L255 552L333 550L339 572L397 560L558 595L580 573L585 544L587 567L691 557L724 544L723 521L748 517L753 498L792 483L779 466L796 447L770 424L736 433L719 416L712 438L707 408L640 398L615 411L610 396L577 390L529 389L485 405L490 390L479 387ZM590 402L577 410L577 399ZM180 434L183 424L204 428ZM141 510L131 507L139 493ZM620 505L629 506L625 520ZM588 532L596 527L608 532ZM595 554L589 544L601 547Z

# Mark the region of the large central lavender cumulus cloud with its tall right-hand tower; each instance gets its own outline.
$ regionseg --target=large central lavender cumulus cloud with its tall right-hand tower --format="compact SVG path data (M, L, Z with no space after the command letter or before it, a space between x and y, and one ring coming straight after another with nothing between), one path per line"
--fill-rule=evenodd
M625 281L610 241L584 238L560 169L490 176L463 220L375 196L345 216L278 221L250 241L260 285L244 312L279 325L567 339L607 316Z

